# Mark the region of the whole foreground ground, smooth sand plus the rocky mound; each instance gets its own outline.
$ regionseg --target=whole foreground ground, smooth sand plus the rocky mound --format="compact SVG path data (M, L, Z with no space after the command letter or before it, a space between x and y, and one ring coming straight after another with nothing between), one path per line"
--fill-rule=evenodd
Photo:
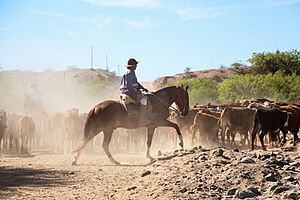
M143 155L2 154L1 199L299 199L299 147L249 151L225 148ZM128 163L128 164L124 164Z

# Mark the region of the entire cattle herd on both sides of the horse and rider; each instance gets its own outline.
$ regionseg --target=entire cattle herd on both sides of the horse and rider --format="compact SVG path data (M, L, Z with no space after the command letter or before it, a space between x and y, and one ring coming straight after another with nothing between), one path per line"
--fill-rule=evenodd
M0 149L18 154L30 154L33 148L69 153L83 137L85 118L86 113L80 114L76 108L64 113L43 112L39 115L19 115L0 110ZM186 146L214 145L266 150L266 142L284 145L287 138L293 138L293 145L296 145L300 105L267 99L234 104L195 104L187 116L170 113L170 119L179 125ZM143 132L143 129L118 129L110 148L120 150L123 147L138 152L146 147L146 135ZM95 137L87 150L99 148L101 139L101 134ZM177 135L172 129L158 128L154 140L160 147L177 147ZM256 147L258 145L261 147Z

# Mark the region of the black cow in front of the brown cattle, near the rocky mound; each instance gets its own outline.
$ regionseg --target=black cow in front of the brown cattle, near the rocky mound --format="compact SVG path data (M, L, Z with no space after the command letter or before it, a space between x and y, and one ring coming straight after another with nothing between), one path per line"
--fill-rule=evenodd
M278 108L274 109L257 109L255 115L254 129L252 132L252 150L254 149L254 140L256 134L259 133L259 139L263 150L266 150L264 145L264 136L269 132L272 135L279 130L284 130L288 125L289 115L287 112L281 111Z

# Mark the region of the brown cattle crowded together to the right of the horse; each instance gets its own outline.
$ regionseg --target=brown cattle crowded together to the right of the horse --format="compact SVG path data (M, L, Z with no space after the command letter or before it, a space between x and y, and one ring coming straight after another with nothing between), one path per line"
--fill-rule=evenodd
M200 143L253 150L257 146L258 135L261 148L266 150L265 141L271 145L284 145L287 137L291 136L293 145L296 145L300 105L268 99L243 100L232 104L196 104L187 117L174 119L186 138L190 138L192 146Z

